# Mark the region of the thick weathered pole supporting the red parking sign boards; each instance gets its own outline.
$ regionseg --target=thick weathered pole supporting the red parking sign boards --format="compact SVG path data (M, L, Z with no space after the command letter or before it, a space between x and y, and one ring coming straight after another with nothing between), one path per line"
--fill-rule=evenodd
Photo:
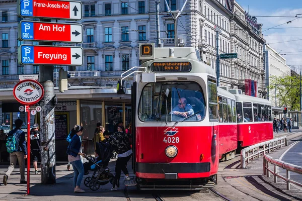
M42 22L50 22L41 19ZM41 45L52 46L50 42L40 42ZM55 183L55 133L54 133L54 87L53 67L40 66L40 83L44 87L44 96L40 101L41 128L41 182L43 184Z

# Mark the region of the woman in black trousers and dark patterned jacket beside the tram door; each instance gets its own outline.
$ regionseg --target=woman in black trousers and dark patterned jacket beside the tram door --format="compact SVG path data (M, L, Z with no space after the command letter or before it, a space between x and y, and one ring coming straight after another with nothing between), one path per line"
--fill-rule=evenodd
M112 149L114 149L118 153L118 158L115 164L115 178L111 190L117 190L116 187L119 187L119 179L122 170L125 174L124 180L130 180L129 172L127 169L127 162L130 160L132 155L132 149L129 140L129 138L131 138L131 134L123 132L125 130L123 126L118 126L117 129L121 132L115 132L109 138L109 143Z

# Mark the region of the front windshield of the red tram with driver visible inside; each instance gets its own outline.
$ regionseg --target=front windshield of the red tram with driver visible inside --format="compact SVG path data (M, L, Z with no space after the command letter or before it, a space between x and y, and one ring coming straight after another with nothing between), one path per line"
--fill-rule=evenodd
M204 94L196 82L157 82L144 86L139 100L139 119L144 122L201 121Z

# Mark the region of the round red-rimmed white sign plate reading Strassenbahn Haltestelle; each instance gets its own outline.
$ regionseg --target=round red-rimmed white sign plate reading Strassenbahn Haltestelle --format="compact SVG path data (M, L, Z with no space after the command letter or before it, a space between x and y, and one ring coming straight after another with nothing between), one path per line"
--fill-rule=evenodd
M44 89L38 81L24 79L14 87L13 94L22 105L34 105L42 99Z

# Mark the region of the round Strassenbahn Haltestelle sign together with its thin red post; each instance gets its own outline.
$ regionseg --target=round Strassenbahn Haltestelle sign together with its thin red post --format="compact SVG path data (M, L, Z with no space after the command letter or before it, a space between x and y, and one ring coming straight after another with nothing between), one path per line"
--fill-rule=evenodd
M25 107L20 106L20 112L27 113L27 194L30 193L30 106L38 103L43 95L43 86L36 80L24 79L17 83L13 90L14 97L16 100L25 105ZM37 113L37 112L36 112Z

